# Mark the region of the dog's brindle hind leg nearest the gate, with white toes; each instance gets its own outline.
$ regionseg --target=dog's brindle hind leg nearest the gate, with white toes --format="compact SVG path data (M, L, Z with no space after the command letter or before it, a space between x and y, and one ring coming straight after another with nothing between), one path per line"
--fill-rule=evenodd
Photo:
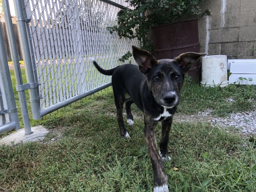
M117 109L117 122L118 122L118 126L120 129L120 134L121 134L121 136L129 138L130 135L128 134L128 132L125 129L124 120L123 120L123 107L124 107L124 102L125 102L125 96L123 94L122 89L120 89L119 87L116 90L113 86L113 92L114 92L114 96L115 96L115 104L116 104L116 109Z

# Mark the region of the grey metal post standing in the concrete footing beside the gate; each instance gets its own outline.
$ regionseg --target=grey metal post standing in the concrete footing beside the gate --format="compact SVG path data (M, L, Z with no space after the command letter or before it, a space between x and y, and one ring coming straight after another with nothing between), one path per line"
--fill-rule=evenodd
M15 36L13 31L13 25L12 25L12 19L11 19L11 13L10 13L10 7L9 7L9 1L4 0L3 1L3 7L4 7L4 16L5 16L5 25L8 30L8 40L9 45L11 49L11 56L12 56L12 63L14 65L14 72L15 72L15 79L16 79L16 85L22 85L22 74L20 70L19 65L19 59L18 59L18 51L15 43ZM24 124L24 130L25 135L31 134L31 127L29 122L29 116L27 111L27 102L25 97L24 90L18 91L19 101L20 101L20 108L21 108L21 114L22 114L22 120Z

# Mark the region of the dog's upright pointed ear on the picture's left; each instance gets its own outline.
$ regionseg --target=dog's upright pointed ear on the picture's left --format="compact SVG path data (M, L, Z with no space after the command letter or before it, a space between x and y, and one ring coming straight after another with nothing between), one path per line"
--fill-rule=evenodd
M148 51L132 46L132 55L139 65L139 70L144 75L147 75L153 65L158 64L155 57Z

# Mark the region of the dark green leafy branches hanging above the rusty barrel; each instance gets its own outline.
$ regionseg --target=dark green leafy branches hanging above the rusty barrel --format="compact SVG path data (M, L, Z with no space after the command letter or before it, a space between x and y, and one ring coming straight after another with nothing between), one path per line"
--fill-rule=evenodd
M122 9L117 14L117 25L107 27L110 33L117 32L120 38L141 41L143 49L153 52L150 39L152 26L173 23L186 15L202 15L200 1L205 0L127 0L133 10ZM208 10L204 13L210 13Z

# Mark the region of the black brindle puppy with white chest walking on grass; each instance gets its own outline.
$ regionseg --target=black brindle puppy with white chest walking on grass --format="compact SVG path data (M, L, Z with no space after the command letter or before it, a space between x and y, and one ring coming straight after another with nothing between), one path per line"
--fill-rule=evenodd
M163 160L171 160L167 146L172 117L179 104L180 89L184 75L191 65L204 53L182 53L174 59L160 59L148 51L132 46L137 65L123 64L106 70L95 60L93 64L104 75L112 75L112 87L117 109L117 121L122 136L129 138L124 121L125 103L127 124L133 126L131 104L144 113L144 136L149 150L154 172L154 192L168 191L167 175ZM130 97L125 98L125 94ZM158 153L155 130L158 122L162 124L160 154Z

